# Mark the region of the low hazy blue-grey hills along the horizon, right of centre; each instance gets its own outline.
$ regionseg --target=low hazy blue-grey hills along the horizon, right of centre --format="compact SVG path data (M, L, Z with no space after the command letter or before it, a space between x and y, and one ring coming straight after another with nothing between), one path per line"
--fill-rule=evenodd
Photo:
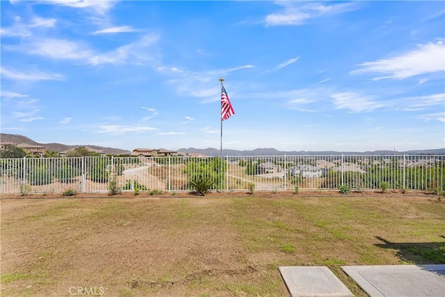
M220 155L220 150L216 148L179 148L181 153L199 153L202 155L209 155L217 157ZM223 149L224 155L445 155L445 148L426 149L417 151L277 151L275 148L256 148L252 151L236 151L230 149Z

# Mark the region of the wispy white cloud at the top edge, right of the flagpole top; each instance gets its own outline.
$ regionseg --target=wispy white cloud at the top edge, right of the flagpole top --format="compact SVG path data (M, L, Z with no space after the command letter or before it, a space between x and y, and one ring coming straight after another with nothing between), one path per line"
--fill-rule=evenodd
M299 5L291 1L275 2L284 7L281 12L271 13L266 16L266 26L297 26L305 24L309 19L323 17L325 15L336 15L343 12L355 10L355 3L339 3L326 5L318 2Z

